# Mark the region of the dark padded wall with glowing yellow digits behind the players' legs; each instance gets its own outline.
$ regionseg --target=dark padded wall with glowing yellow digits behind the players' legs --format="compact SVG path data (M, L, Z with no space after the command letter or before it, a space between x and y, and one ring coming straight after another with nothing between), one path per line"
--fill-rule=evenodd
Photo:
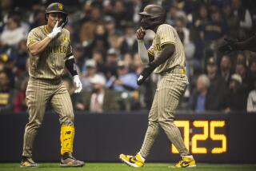
M256 163L256 113L177 113L176 124L198 162ZM20 161L27 113L0 114L0 162ZM74 156L82 161L119 161L137 153L147 127L146 112L76 113ZM46 113L34 143L35 161L59 161L59 121ZM161 130L147 161L174 162L178 153Z

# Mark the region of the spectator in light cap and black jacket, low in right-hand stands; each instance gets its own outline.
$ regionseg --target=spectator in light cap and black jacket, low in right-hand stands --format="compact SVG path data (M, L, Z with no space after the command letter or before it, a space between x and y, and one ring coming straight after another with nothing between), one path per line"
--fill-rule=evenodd
M246 111L247 93L242 88L242 78L233 74L230 79L230 89L225 98L225 111Z

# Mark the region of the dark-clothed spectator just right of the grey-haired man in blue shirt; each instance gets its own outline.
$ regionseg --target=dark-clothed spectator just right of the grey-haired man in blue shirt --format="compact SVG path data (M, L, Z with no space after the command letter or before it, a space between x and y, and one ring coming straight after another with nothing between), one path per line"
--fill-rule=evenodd
M216 60L210 57L207 61L206 72L210 79L210 87L208 89L206 109L221 110L223 109L223 101L227 93L227 85L225 79L218 74L218 66Z

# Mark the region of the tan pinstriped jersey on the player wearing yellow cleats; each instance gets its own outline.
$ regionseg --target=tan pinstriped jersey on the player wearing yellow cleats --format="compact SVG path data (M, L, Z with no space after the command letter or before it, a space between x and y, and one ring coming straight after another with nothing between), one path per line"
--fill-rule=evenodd
M178 34L174 27L162 24L158 26L158 30L155 34L152 46L148 49L148 52L158 58L159 54L162 52L162 47L166 44L173 44L175 46L175 51L172 58L168 58L166 62L162 63L155 70L155 74L160 74L170 68L178 66L179 68L185 68L185 54L182 42L178 37Z

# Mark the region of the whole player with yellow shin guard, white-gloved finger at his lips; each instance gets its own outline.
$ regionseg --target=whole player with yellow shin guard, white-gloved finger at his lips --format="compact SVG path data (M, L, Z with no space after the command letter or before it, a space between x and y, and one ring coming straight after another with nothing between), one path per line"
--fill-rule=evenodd
M61 124L60 141L62 148L61 166L78 167L84 165L72 156L74 141L74 112L62 74L64 66L70 71L79 93L82 84L78 77L74 56L70 46L70 33L63 27L67 13L61 3L51 3L46 8L46 26L38 26L30 31L27 47L30 54L30 80L26 89L29 122L26 124L23 141L21 167L38 167L32 160L32 146L38 128L42 124L46 103L50 102L59 115Z

